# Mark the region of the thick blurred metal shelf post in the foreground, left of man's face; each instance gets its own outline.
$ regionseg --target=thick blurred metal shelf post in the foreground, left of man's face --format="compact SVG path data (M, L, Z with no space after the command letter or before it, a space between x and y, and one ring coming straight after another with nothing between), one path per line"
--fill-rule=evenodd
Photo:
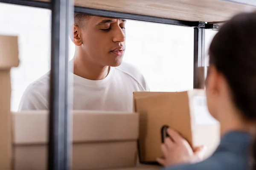
M52 0L48 170L70 169L68 30L71 3L70 0Z

